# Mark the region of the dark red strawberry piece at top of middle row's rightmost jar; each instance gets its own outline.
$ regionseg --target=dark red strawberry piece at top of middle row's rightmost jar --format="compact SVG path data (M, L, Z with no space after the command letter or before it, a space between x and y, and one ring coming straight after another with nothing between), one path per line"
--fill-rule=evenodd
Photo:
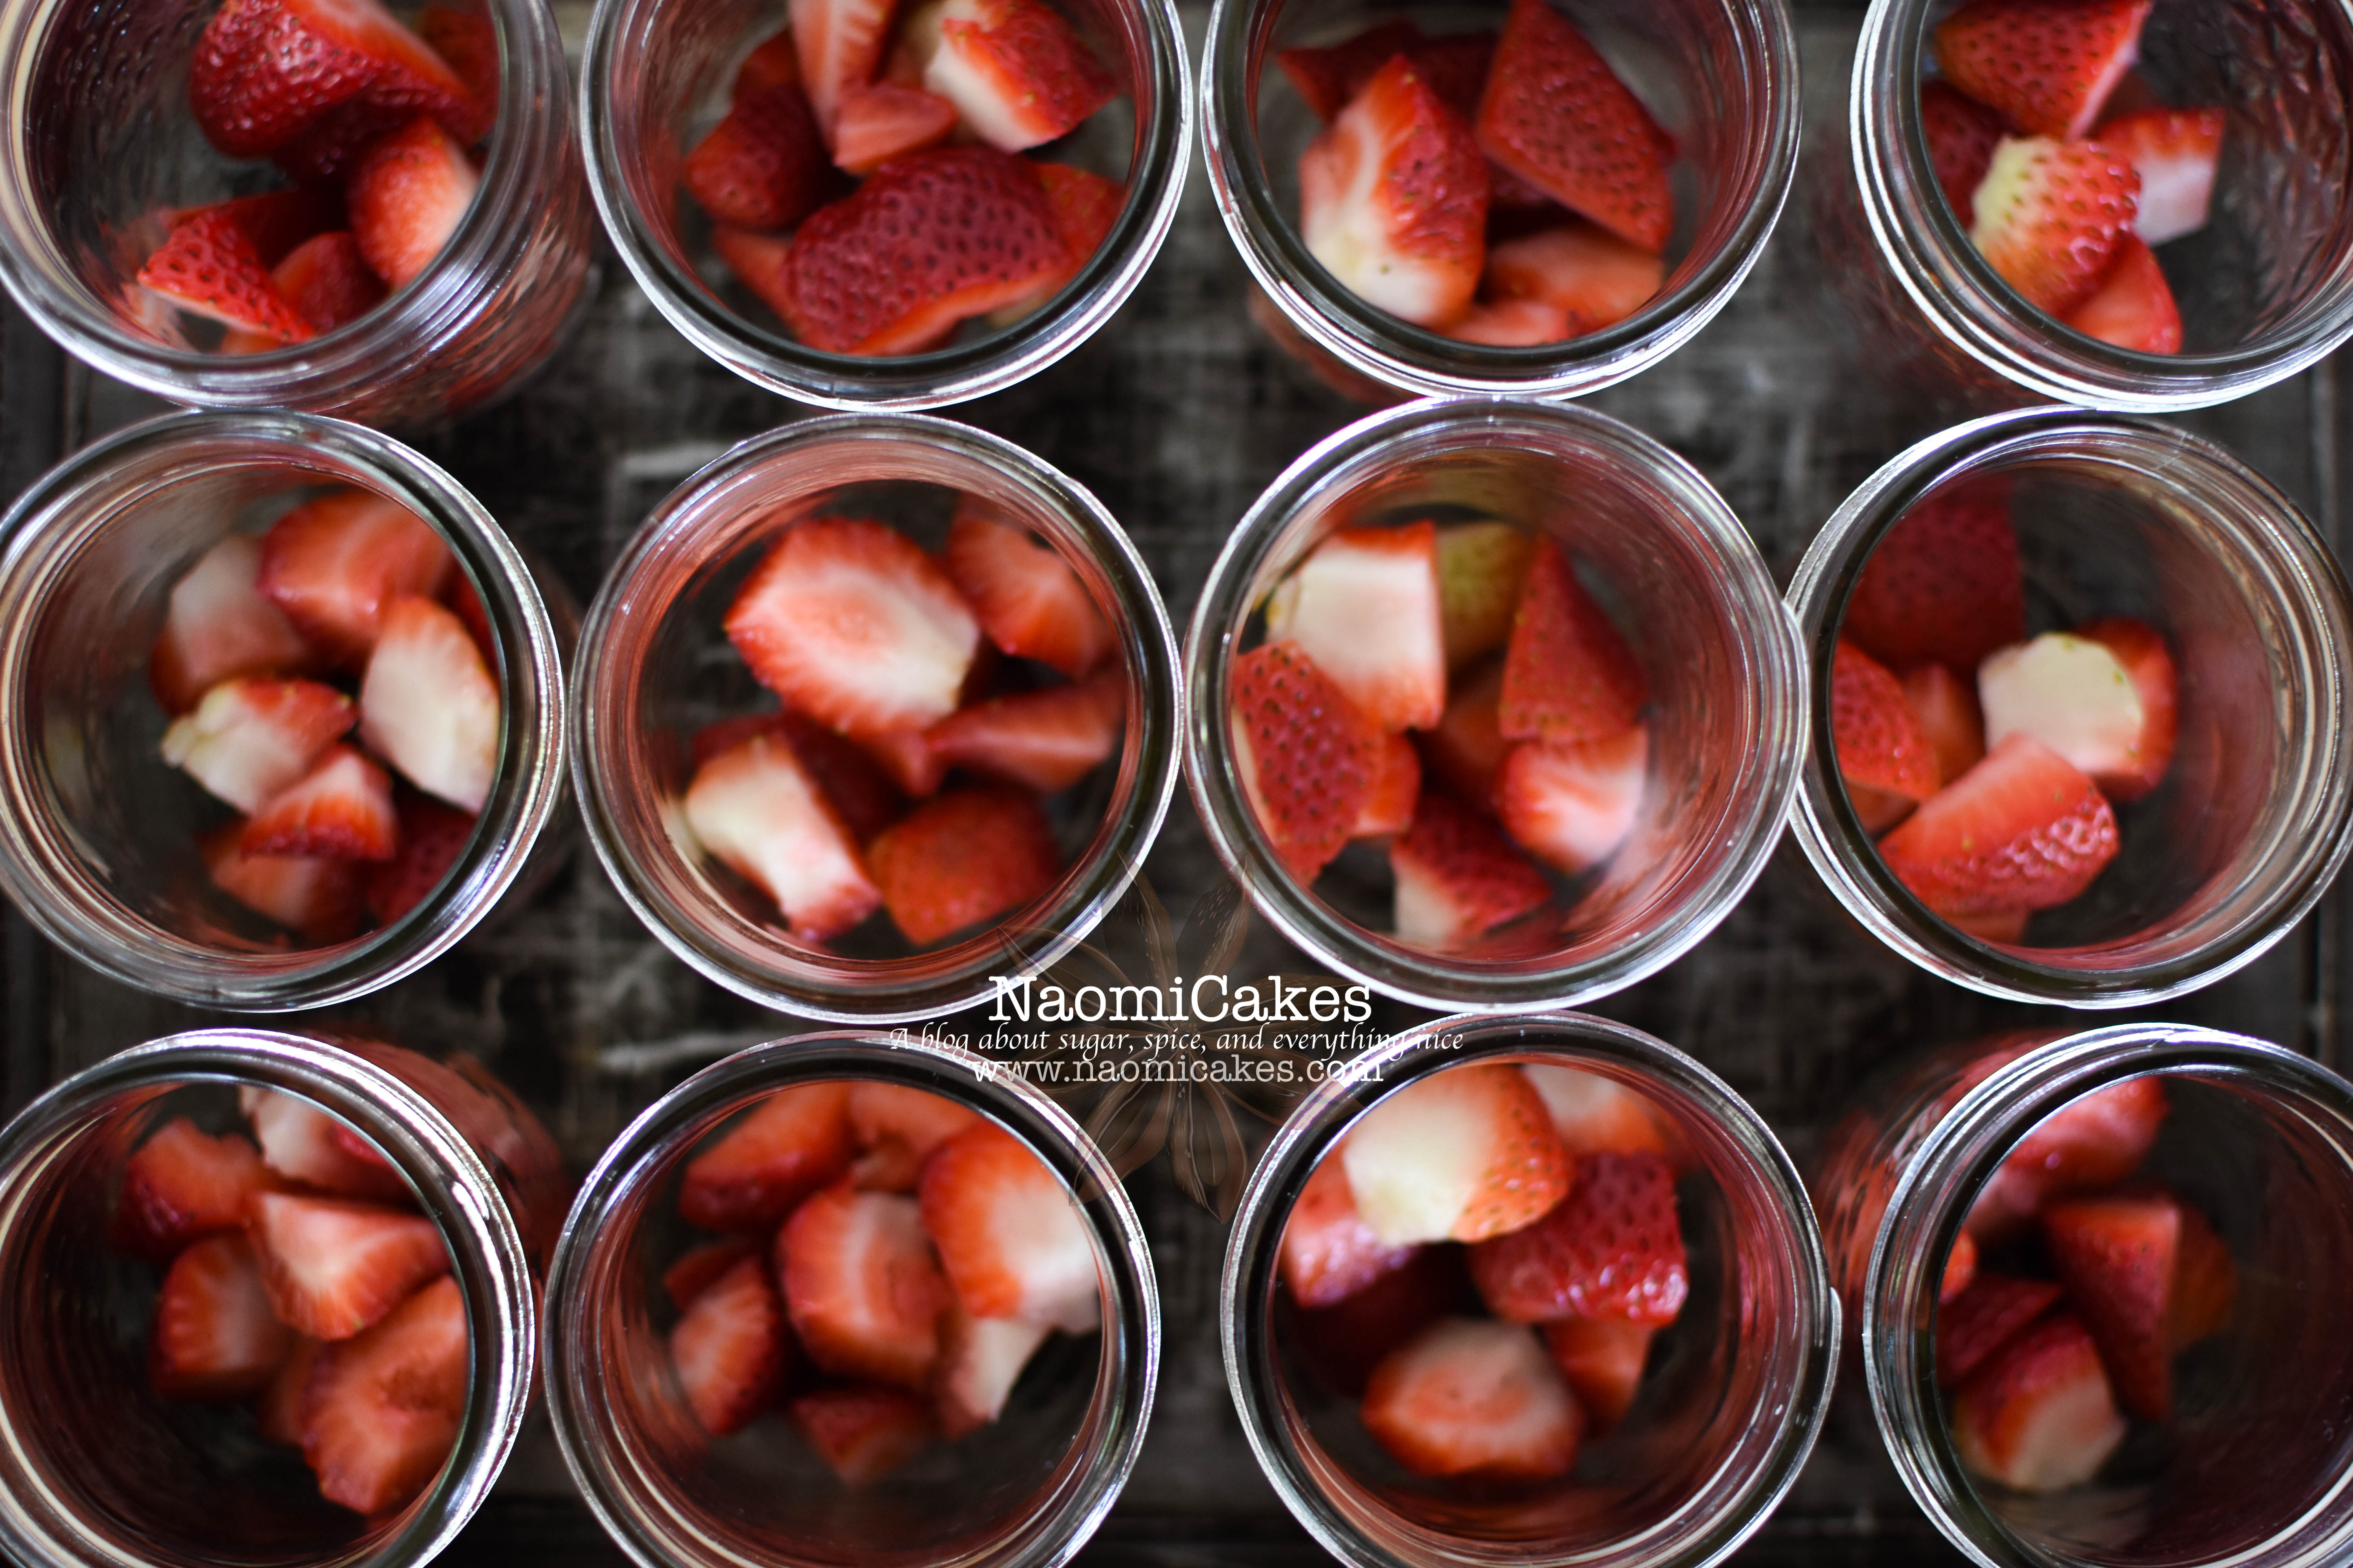
M2026 635L2026 576L2009 491L1958 484L1918 501L1880 536L1838 632L1885 665L1922 658L1977 670Z

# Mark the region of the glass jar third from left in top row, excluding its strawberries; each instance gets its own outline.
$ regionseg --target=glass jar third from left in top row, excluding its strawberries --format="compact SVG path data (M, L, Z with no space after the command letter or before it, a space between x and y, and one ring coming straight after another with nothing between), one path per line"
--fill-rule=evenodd
M1682 348L1748 277L1798 167L1798 33L1781 0L1598 0L1602 42L1680 148L1666 287L1614 327L1539 348L1485 348L1358 299L1299 237L1299 153L1318 125L1275 54L1395 14L1379 0L1219 0L1202 54L1202 158L1226 233L1311 348L1424 395L1577 397ZM1501 5L1431 14L1499 24ZM1264 122L1261 122L1264 115Z

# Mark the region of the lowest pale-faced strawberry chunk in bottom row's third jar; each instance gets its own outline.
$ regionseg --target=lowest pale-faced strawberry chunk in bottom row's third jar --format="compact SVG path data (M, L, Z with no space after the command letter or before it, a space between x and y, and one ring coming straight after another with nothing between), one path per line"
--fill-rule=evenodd
M1358 1418L1417 1476L1499 1481L1567 1474L1586 1427L1532 1331L1459 1316L1393 1349Z

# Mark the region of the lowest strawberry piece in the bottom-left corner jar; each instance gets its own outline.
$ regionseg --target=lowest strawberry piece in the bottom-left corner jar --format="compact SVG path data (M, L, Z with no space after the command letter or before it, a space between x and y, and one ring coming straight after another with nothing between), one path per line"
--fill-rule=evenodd
M456 1446L473 1371L466 1298L438 1279L367 1333L318 1352L301 1453L318 1490L358 1514L421 1493Z

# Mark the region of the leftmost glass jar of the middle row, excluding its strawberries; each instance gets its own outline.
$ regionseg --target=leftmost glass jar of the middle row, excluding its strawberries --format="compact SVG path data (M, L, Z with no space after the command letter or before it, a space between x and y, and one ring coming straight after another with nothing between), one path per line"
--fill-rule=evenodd
M499 769L473 842L414 910L318 947L212 886L219 809L160 752L148 649L172 585L304 487L355 484L431 522L496 644ZM348 1001L424 969L525 875L562 797L565 649L522 557L400 442L306 414L167 414L66 458L0 517L0 884L92 969L200 1006Z

